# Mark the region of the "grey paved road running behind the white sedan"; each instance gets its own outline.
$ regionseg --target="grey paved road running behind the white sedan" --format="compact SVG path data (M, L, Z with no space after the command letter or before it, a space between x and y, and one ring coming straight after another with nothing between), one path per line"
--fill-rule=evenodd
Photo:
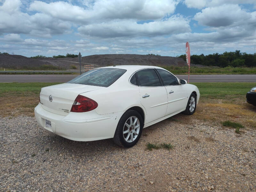
M0 82L67 82L77 75L0 75ZM177 75L188 80L188 75ZM256 75L190 75L190 82L256 82Z

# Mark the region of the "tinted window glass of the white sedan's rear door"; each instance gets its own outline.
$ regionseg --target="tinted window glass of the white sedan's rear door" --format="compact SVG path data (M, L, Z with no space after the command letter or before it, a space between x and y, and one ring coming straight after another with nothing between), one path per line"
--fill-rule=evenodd
M137 72L139 86L161 86L160 80L154 69L143 69Z

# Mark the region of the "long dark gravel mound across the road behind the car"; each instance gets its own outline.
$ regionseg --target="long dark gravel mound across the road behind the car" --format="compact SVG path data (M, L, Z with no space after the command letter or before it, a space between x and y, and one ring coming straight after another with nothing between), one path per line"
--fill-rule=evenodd
M84 69L84 65L88 64L94 65L95 68L113 65L186 66L186 62L179 57L136 54L105 54L82 57L82 69ZM72 68L74 66L77 69L80 68L77 57L33 59L21 55L0 55L0 68L32 69L42 65L52 65L67 70L74 70Z

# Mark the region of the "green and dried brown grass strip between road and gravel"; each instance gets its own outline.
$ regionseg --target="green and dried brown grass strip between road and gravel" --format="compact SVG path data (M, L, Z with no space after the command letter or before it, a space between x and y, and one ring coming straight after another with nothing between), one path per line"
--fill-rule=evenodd
M0 83L0 112L2 116L34 116L41 87L58 83ZM170 120L188 123L191 118L222 124L256 125L256 107L246 103L246 93L255 83L192 83L200 91L200 100L193 116L178 114Z

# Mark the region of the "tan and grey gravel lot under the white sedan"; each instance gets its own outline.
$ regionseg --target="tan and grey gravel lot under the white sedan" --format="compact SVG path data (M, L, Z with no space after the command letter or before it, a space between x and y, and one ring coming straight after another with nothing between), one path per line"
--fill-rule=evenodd
M0 191L256 191L256 130L189 119L152 125L125 149L62 138L34 117L0 117ZM149 151L148 142L175 147Z

